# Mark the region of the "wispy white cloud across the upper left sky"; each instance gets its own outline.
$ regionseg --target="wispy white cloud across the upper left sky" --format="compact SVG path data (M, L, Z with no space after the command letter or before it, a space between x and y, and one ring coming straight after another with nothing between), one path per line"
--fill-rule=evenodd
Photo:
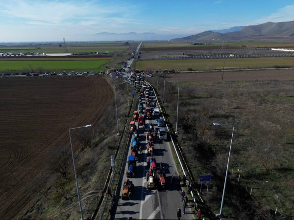
M0 14L9 19L22 19L29 24L83 25L97 24L103 18L117 15L118 20L130 6L116 2L116 7L94 0L10 0L1 2ZM130 13L131 14L131 13ZM122 18L125 20L126 18ZM38 21L38 22L36 22ZM127 22L132 22L128 20Z

